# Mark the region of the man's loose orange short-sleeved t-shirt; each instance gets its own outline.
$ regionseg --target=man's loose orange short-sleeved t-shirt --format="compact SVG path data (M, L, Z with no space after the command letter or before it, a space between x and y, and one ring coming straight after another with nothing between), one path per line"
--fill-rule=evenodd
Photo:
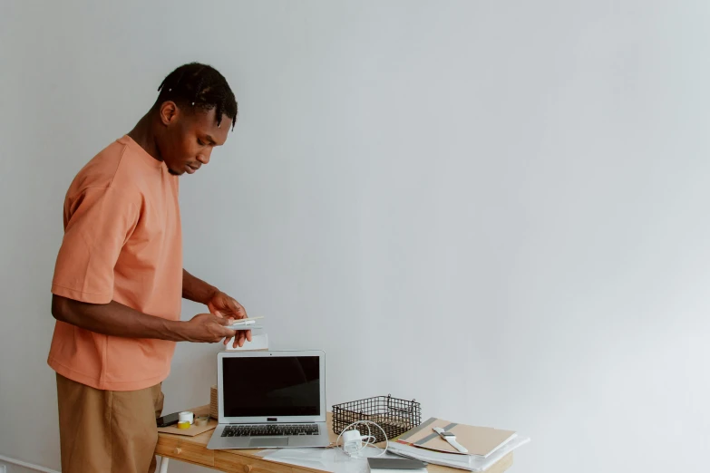
M128 136L89 161L66 194L52 292L180 320L178 178ZM92 388L133 391L165 380L174 351L174 342L114 337L57 321L47 362Z

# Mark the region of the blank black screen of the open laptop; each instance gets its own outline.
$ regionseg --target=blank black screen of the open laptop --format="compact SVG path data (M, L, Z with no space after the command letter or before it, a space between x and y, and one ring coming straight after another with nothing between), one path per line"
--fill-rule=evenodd
M222 359L225 417L320 415L317 356Z

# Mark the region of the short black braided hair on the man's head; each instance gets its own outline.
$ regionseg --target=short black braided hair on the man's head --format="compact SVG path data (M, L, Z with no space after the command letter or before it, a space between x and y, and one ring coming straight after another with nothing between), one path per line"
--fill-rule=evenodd
M224 114L232 119L234 130L237 123L237 100L227 79L217 69L200 63L181 65L160 83L158 91L160 93L155 106L165 101L174 101L203 111L217 109L217 125L221 125Z

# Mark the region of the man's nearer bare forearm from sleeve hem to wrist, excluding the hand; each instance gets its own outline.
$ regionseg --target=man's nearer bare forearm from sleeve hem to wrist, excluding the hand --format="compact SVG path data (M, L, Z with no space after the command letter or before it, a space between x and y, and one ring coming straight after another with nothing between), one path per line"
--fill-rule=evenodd
M188 340L184 323L142 314L115 301L86 304L59 295L52 298L55 319L95 333L128 338L157 338L180 342Z

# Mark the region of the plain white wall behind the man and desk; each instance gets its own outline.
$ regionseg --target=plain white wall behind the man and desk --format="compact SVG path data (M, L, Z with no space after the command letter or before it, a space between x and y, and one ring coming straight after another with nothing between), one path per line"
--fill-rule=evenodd
M514 471L707 469L710 4L97 4L0 6L0 454L59 468L64 191L199 60L240 117L181 181L186 267L326 350L329 405L519 430Z

